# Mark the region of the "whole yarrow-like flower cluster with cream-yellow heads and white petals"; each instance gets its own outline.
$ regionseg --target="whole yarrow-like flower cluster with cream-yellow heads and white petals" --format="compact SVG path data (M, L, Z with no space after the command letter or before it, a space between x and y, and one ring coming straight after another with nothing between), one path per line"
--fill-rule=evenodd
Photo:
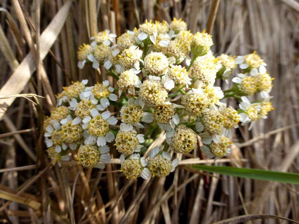
M45 119L53 164L74 157L83 167L103 169L116 150L127 178L165 177L179 164L172 157L191 153L198 139L206 157L229 155L231 130L239 122L250 130L274 109L273 79L256 52L216 57L212 36L191 33L181 19L146 21L115 37L105 30L79 47L78 67L105 67L116 88L107 80L94 86L83 80L57 94L57 107ZM231 89L214 85L216 79L228 82L238 66ZM237 99L239 108L221 102L227 97ZM151 145L162 131L164 146Z

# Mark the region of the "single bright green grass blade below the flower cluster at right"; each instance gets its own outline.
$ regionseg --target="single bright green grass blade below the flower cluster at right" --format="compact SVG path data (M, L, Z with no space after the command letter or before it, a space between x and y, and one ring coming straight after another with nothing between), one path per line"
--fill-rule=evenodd
M299 184L299 174L284 173L260 169L237 168L231 166L193 165L196 170L224 174L234 177L251 178L258 180L276 181L282 183Z

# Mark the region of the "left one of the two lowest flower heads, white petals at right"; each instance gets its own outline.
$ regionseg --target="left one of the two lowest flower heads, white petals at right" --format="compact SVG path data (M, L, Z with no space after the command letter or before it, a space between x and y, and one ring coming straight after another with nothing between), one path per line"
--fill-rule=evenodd
M139 176L143 179L148 179L150 176L149 169L146 168L147 162L144 157L140 158L139 154L132 154L127 159L121 155L120 164L120 171L126 175L127 179L136 179Z

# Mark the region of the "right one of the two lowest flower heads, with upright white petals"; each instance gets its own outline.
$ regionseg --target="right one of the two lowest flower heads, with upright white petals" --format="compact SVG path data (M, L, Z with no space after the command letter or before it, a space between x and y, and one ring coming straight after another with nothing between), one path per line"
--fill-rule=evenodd
M179 164L179 159L171 162L171 156L168 152L159 153L158 146L155 146L149 153L148 168L153 177L166 177L173 172Z

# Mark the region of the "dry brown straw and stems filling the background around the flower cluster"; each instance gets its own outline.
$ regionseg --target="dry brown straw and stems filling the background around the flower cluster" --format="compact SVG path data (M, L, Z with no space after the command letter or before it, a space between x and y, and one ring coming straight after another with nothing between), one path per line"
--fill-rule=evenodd
M71 162L50 167L38 132L42 114L49 115L56 104L54 94L71 81L89 79L92 85L109 79L116 84L102 68L100 72L77 68L77 49L94 33L109 29L120 36L145 19L170 23L173 17L182 18L196 33L206 29L214 11L214 55L257 51L275 78L271 91L275 110L251 131L240 126L233 134L231 155L215 164L298 173L298 1L1 0L0 7L0 197L6 199L1 201L0 217L4 223L215 223L248 214L299 220L298 185L200 173L188 163L167 178L147 181L127 180L115 164L103 172ZM35 43L39 47L30 53ZM216 85L225 90L233 84L218 80ZM18 93L45 98L39 101L41 107L24 97L3 99ZM238 105L235 99L226 103ZM201 157L200 151L184 155L190 157Z

